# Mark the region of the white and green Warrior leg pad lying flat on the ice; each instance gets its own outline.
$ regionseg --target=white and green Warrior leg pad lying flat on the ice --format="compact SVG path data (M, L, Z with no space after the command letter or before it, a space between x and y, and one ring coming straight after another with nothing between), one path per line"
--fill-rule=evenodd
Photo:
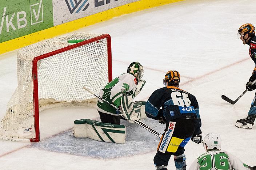
M102 123L96 120L75 120L73 136L77 138L90 138L110 143L125 143L125 126L112 123Z

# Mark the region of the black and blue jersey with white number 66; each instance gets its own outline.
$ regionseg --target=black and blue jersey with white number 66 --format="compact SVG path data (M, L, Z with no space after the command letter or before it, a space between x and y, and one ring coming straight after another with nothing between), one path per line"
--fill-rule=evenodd
M155 90L146 103L145 113L149 118L155 120L164 116L167 124L177 118L195 116L194 133L201 132L201 119L196 97L175 86L166 86Z

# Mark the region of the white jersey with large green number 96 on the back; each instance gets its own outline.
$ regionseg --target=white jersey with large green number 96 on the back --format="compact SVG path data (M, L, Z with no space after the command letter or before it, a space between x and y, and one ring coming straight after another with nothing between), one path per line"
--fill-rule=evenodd
M212 150L199 156L189 170L249 170L247 165L225 150Z

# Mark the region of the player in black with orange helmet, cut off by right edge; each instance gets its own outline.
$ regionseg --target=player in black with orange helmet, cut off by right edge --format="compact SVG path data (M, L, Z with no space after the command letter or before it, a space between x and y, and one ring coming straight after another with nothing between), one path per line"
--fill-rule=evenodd
M256 65L256 36L255 36L255 27L252 24L244 24L240 26L238 30L238 38L240 38L244 44L250 46L249 54L251 59L254 61ZM249 78L246 89L248 91L252 91L256 89L256 83L252 84L252 82L256 79L256 66L253 69L252 76ZM256 93L255 97L252 100L251 108L248 112L248 116L244 119L239 119L236 121L236 127L252 129L256 118Z

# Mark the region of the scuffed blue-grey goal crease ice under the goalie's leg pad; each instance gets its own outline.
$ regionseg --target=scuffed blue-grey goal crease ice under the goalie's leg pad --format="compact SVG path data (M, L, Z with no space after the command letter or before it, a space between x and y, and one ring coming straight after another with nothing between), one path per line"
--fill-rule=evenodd
M160 133L164 132L163 129L165 126L158 126L152 119L141 121ZM154 136L136 123L131 124L123 120L121 124L125 125L127 131L125 144L105 143L88 138L76 138L73 135L70 136L72 130L68 130L42 140L39 143L33 143L29 147L99 159L120 158L124 155L133 156L156 150L159 137Z

